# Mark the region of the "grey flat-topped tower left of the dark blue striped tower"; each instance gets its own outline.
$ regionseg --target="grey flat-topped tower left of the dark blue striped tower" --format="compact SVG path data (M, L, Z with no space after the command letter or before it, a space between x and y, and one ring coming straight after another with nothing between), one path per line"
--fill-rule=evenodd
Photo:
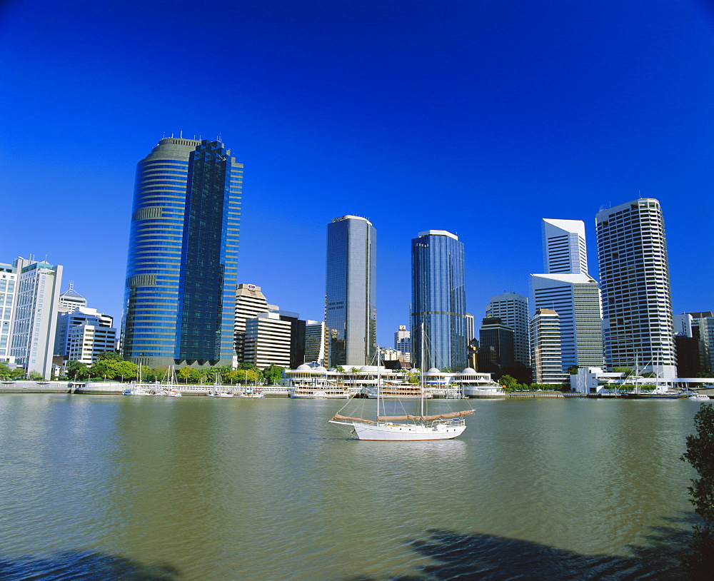
M327 226L325 323L330 367L376 365L377 232L359 216Z

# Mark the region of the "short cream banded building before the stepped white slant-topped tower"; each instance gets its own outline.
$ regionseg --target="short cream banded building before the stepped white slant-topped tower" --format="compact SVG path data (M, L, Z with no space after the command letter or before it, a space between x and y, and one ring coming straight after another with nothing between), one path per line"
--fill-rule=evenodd
M535 309L531 319L533 383L559 384L568 381L560 356L560 321L549 308Z

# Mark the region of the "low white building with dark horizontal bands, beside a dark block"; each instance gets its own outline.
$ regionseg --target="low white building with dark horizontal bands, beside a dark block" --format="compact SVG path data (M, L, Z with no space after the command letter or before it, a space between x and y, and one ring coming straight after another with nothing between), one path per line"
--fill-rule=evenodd
M278 313L258 313L246 320L243 361L258 369L271 365L290 368L291 327Z

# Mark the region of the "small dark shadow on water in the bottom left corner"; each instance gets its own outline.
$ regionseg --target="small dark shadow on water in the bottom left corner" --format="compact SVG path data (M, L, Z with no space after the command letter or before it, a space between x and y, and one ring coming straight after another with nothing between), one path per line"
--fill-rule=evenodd
M0 581L179 581L171 565L146 565L136 560L91 551L62 551L47 557L0 557Z

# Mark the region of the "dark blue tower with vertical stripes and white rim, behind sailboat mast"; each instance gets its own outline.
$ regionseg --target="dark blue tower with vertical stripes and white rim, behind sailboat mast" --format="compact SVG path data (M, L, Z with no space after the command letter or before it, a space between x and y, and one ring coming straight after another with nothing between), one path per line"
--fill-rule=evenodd
M463 242L451 232L428 230L411 241L411 340L417 368L466 368Z

